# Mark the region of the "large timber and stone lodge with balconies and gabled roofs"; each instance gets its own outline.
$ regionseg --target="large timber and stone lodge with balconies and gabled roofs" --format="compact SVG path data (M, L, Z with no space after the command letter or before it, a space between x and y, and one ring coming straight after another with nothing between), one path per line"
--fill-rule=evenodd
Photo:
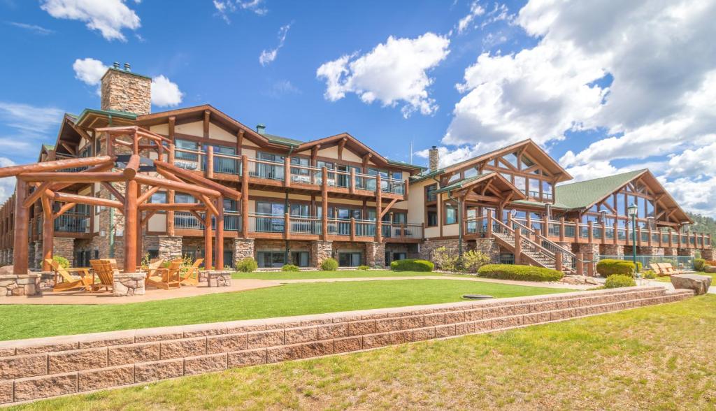
M261 267L315 267L331 256L341 266L384 266L430 258L438 246L541 266L629 255L632 247L648 256L700 250L713 259L710 236L688 231L692 221L649 170L566 183L571 175L532 140L445 168L438 168L433 148L425 169L384 158L346 132L293 140L263 125L246 127L211 105L152 113L150 82L108 69L100 110L65 115L57 142L42 146L38 162L107 155L107 133L97 132L103 127L137 126L166 137L160 160L241 192L223 199L221 259L228 266L248 256ZM117 193L106 183L74 183L63 191L107 199ZM1 265L13 262L15 196L0 209ZM196 202L173 190L155 189L147 199ZM636 243L627 216L632 203ZM122 261L123 217L114 208L57 200L52 208L52 253L74 266L92 258ZM31 269L42 266L44 215L39 200L29 208ZM216 235L205 229L208 223L191 210L143 213L137 259L204 256L206 236Z

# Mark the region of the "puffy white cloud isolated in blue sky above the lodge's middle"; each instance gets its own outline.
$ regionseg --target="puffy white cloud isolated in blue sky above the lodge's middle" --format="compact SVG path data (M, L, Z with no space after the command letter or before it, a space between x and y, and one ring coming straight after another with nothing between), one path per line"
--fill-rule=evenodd
M322 64L316 77L326 81L324 97L329 101L354 92L367 104L379 100L395 107L402 102L404 117L415 111L431 115L438 106L427 91L433 81L427 72L448 56L449 45L449 39L432 33L415 39L391 36L360 57L354 53Z

